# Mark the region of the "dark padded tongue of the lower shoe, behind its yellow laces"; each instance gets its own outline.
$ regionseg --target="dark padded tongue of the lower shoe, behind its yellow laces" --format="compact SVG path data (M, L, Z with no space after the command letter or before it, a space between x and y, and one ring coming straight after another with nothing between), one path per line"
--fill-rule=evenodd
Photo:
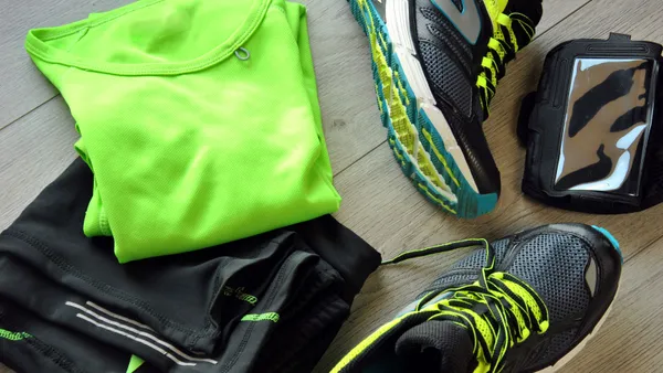
M470 372L474 344L470 333L451 321L427 321L396 342L396 354L420 369L439 372Z

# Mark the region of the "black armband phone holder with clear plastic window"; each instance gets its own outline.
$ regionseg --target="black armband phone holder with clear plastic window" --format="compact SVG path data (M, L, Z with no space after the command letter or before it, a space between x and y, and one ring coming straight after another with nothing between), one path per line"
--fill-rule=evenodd
M575 40L546 57L523 100L523 191L566 210L630 213L663 202L663 46L611 34Z

